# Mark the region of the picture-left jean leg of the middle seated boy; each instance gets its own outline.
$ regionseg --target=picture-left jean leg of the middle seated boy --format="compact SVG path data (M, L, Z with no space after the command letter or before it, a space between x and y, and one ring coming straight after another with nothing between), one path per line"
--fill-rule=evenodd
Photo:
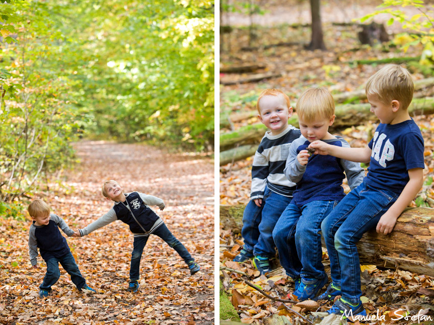
M295 230L301 215L300 208L290 203L282 212L273 230L273 239L279 251L280 265L292 279L300 278L301 262L295 244Z

